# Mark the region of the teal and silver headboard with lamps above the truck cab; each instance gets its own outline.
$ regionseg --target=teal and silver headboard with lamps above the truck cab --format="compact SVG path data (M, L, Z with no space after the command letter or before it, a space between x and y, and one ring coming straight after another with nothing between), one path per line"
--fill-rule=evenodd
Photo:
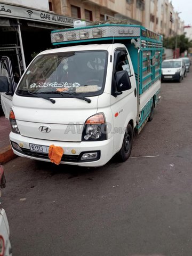
M150 43L162 45L163 37L139 25L104 24L72 29L54 30L51 32L53 45L74 45L99 42L106 43L118 40L140 39ZM145 47L145 46L144 46Z

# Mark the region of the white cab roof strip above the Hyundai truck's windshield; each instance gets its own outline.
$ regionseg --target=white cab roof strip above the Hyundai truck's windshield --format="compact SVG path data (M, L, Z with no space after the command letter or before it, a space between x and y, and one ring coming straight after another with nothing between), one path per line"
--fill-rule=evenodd
M46 50L39 54L50 54L56 52L73 52L73 51L97 51L97 50L108 50L111 47L111 44L90 44L90 45L75 45L75 46L68 46L68 47L61 47L52 50ZM125 47L123 44L113 44L113 47Z

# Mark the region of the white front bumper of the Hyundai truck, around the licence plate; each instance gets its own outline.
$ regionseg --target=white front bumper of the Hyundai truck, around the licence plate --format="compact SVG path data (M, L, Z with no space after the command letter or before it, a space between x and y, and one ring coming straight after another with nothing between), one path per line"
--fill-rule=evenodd
M51 162L48 154L46 153L36 153L34 151L30 151L29 143L33 143L36 145L42 145L49 147L50 145L55 145L62 147L64 150L64 154L61 158L61 164L70 164L70 165L78 165L78 166L102 166L105 165L110 158L113 156L113 137L108 140L103 141L82 141L82 142L67 142L67 141L50 141L50 140L41 140L24 137L20 134L15 134L13 132L10 133L10 141L17 143L22 151L18 151L13 148L13 152L15 155L21 157L27 157L30 159L36 159L39 161ZM71 151L75 151L73 154ZM89 160L87 162L81 162L82 153L90 153L97 151L99 153L99 159Z

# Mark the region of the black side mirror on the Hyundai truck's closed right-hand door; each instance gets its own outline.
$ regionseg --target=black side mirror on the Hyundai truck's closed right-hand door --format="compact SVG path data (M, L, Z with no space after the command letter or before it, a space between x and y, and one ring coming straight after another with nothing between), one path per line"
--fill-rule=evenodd
M117 91L123 92L131 89L131 82L126 70L117 71L115 74Z

